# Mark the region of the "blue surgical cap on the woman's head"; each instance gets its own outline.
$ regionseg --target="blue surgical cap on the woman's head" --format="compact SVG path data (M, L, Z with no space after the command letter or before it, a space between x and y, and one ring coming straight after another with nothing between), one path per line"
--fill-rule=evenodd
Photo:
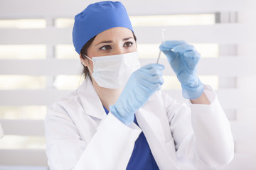
M132 29L126 9L119 1L101 1L90 4L75 16L73 44L80 54L85 43L95 35L114 27Z

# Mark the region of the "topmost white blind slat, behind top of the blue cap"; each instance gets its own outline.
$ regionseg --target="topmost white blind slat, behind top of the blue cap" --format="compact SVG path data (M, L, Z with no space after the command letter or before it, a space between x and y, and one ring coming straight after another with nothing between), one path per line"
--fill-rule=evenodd
M59 1L2 0L0 6L0 16L5 16L9 18L14 16L75 16L78 11L82 11L85 6L94 2L94 0L65 1L65 3L63 3L60 8ZM214 11L227 10L241 11L245 9L250 9L252 8L252 6L255 5L255 1L253 0L236 0L232 1L232 5L230 5L230 1L220 0L197 0L196 3L195 1L189 0L175 1L175 3L174 1L157 1L156 3L156 1L146 0L122 0L122 3L127 8L127 11L130 15L159 15L166 13L210 13ZM23 4L29 5L24 6ZM22 6L22 10L20 9L20 6ZM33 6L33 8L31 8L31 6ZM12 9L11 13L9 9Z

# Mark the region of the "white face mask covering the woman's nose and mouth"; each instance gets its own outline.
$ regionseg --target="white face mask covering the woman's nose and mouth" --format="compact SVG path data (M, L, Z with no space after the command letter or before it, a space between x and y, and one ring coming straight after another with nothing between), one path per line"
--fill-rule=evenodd
M107 89L124 87L132 72L140 67L137 52L87 58L93 62L93 72L88 67L93 79Z

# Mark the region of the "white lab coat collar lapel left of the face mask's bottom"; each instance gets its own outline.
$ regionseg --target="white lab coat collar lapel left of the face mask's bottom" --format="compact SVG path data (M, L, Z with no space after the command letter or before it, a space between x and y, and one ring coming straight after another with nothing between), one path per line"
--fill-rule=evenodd
M102 102L100 101L99 96L97 96L97 92L92 86L92 81L88 76L78 88L78 96L87 115L99 119L106 116Z

